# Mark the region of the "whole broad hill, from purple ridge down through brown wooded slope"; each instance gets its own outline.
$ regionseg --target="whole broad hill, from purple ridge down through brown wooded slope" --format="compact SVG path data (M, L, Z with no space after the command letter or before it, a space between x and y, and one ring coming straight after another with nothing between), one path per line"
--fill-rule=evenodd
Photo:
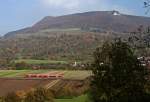
M150 18L117 11L48 16L32 27L1 38L0 58L12 55L26 59L91 60L93 51L104 41L118 36L128 38L128 32L140 25L149 26Z

